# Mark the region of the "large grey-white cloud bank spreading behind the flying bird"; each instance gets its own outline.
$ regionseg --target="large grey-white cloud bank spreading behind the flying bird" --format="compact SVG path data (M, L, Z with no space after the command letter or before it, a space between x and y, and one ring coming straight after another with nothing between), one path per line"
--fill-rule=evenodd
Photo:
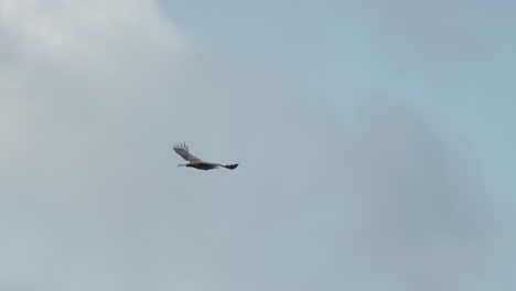
M475 174L404 105L312 107L153 2L0 3L0 288L496 285Z

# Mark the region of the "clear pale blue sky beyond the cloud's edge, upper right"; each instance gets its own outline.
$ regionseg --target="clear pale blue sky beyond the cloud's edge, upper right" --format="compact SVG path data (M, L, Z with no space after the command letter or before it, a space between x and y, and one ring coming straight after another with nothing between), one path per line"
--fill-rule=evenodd
M490 192L505 195L508 205L516 202L514 3L162 4L200 42L294 75L311 93L309 101L335 105L343 116L353 117L372 96L410 107L477 168Z

